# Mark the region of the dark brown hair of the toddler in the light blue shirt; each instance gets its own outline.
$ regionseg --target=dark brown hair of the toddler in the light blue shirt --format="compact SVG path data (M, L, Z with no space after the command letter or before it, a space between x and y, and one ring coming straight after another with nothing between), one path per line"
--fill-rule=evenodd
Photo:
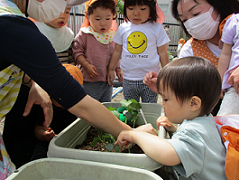
M193 96L199 97L200 116L212 112L219 101L221 86L217 68L210 61L194 56L170 62L159 72L157 79L158 92L169 88L181 103Z

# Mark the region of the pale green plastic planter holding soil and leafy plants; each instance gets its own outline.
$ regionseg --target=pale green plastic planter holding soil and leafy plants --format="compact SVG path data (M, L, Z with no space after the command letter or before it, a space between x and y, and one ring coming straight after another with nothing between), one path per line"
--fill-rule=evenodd
M103 103L106 107L120 107L120 103ZM157 129L156 120L163 113L160 104L142 103L142 110L148 123L151 123ZM144 120L139 114L136 122L138 125L143 125ZM82 144L90 129L90 125L78 118L66 129L64 129L58 136L54 137L49 145L48 157L79 159L86 161L102 162L109 164L117 164L123 166L130 166L154 171L162 167L162 164L154 161L145 154L134 153L114 153L114 152L100 152L75 149L76 145ZM162 128L161 130L164 131ZM166 133L162 133L166 134Z

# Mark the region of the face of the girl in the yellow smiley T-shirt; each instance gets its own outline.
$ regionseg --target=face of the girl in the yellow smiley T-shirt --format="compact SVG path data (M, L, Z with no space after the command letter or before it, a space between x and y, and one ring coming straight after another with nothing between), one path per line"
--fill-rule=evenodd
M138 25L145 23L149 19L150 9L147 5L129 6L126 8L126 14L133 24Z

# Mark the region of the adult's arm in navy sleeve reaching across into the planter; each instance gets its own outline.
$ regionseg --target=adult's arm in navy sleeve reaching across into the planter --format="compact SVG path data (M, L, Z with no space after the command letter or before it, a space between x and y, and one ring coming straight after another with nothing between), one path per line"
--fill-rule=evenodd
M89 124L117 136L131 129L105 106L86 95L58 60L48 39L34 23L22 17L0 17L1 59L28 74L53 99Z

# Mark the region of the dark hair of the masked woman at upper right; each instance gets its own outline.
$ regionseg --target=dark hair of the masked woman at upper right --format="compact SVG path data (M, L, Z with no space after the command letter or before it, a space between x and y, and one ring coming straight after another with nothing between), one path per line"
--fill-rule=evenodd
M183 2L184 0L173 0L172 1L172 14L175 19L181 22L179 15L178 15L178 4ZM195 3L198 3L198 0L193 0ZM220 22L225 19L228 15L232 13L239 13L239 2L238 0L205 0L214 9L220 14L221 20ZM181 22L181 26L185 33L189 35L187 29L185 28L184 24Z

